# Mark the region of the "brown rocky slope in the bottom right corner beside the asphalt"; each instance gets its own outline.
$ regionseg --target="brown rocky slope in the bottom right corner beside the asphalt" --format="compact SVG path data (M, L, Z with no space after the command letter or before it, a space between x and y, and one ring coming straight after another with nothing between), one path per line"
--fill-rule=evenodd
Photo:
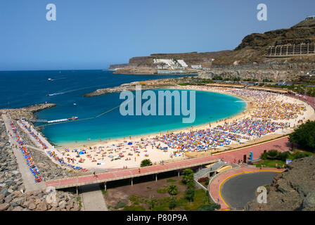
M252 211L314 211L315 155L293 160L285 172L274 177L267 191L266 204L254 200L245 208Z

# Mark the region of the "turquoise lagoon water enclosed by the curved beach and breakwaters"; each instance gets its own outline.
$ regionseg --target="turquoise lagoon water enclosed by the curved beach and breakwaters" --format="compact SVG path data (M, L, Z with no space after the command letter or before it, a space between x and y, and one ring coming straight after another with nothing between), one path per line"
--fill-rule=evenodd
M172 91L172 90L171 90ZM155 90L157 92L157 90ZM77 116L79 118L94 117L106 110L115 108L122 100L119 94L108 94L89 98L88 101L69 105L67 108L51 108L37 115L39 118L56 119ZM182 115L175 116L122 116L119 108L92 120L54 124L44 129L44 134L53 143L68 143L74 141L98 141L98 139L114 139L139 134L150 134L160 131L195 126L210 121L219 120L240 113L245 103L233 96L196 91L196 119L192 124L182 123Z

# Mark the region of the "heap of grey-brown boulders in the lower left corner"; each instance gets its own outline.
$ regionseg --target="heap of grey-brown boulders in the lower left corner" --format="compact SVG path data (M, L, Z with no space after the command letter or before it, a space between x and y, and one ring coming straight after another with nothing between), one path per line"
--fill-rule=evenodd
M71 192L56 191L56 203L47 203L45 191L25 193L18 162L0 120L0 211L79 211L81 203Z

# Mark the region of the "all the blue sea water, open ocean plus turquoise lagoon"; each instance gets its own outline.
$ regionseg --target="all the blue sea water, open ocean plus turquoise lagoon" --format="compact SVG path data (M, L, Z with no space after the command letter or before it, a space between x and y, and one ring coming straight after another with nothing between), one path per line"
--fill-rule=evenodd
M120 94L117 93L91 98L84 98L83 94L133 81L169 77L180 76L113 75L112 72L101 70L61 71L60 73L58 71L0 72L0 108L7 106L18 108L48 101L56 103L57 106L38 112L39 119L95 117L115 108L124 100L120 100ZM53 81L48 82L48 78ZM46 96L46 94L53 94L53 96ZM114 139L205 124L236 115L245 107L244 101L233 96L196 91L196 115L193 124L182 123L183 116L174 116L174 113L172 116L122 116L119 108L116 108L92 120L46 126L43 133L56 144L75 143L75 141L87 141L87 139L91 141Z

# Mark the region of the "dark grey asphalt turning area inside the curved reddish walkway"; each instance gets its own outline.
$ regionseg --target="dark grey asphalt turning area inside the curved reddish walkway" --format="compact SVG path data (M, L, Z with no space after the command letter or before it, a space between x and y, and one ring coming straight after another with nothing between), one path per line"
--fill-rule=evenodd
M221 186L221 196L231 208L243 210L246 203L255 198L259 186L271 184L277 172L240 174L228 179Z

